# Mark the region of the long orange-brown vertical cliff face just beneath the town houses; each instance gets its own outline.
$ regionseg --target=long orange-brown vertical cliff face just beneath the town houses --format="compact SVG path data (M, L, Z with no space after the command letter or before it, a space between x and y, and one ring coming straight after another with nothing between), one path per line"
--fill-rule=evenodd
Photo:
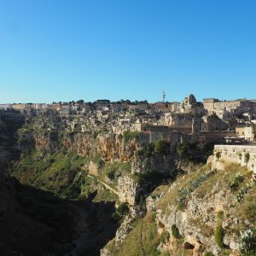
M23 135L30 138L36 150L49 153L61 148L74 150L85 157L100 155L105 161L128 161L133 158L134 152L140 147L137 140L124 141L119 135L112 132L93 137L86 133L31 132ZM28 139L27 139L28 141Z

